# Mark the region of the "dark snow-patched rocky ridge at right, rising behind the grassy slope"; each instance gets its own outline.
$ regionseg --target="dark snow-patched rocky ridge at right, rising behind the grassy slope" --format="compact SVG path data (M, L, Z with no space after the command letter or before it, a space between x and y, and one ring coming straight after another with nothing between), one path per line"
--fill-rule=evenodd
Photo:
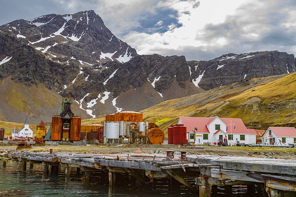
M222 55L210 61L189 61L194 84L204 90L238 82L295 72L294 55L279 51Z

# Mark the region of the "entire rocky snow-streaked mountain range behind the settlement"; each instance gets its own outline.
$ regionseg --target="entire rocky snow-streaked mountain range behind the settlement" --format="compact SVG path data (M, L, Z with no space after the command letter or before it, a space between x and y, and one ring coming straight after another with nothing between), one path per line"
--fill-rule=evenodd
M140 111L244 79L291 73L294 62L293 54L279 51L209 61L138 55L92 10L20 19L0 26L0 90L6 92L0 119L15 122L28 112L36 123L50 122L62 97L72 98L83 118ZM9 89L20 90L17 99Z

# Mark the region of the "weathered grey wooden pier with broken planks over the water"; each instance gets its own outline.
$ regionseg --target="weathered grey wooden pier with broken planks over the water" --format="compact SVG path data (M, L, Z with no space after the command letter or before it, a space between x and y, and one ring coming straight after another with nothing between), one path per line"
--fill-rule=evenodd
M6 156L17 165L22 163L22 170L26 170L27 162L30 168L42 164L44 176L49 175L49 166L51 173L64 169L65 178L70 178L73 169L76 172L82 170L86 182L91 181L92 172L105 172L109 175L110 190L116 184L116 177L124 173L148 186L153 179L170 178L171 183L183 184L201 197L211 196L218 185L224 185L230 193L232 185L247 185L250 194L254 192L254 185L263 185L263 196L296 196L295 159L214 155L188 155L181 159L180 155L170 158L165 154L61 152L9 152ZM196 185L189 183L187 178L195 178Z

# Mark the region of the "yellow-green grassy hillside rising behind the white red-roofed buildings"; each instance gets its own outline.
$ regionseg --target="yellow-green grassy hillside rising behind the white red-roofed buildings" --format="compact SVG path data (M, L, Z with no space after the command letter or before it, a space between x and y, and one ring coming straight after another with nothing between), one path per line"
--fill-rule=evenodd
M165 133L180 116L241 118L247 128L295 126L296 73L249 79L143 110ZM269 106L268 106L269 105Z

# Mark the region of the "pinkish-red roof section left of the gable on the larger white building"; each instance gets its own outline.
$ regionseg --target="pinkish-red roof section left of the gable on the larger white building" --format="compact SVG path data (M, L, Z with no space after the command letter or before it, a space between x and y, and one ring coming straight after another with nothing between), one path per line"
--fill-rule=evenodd
M192 131L196 127L196 133L210 133L207 126L205 126L209 118L180 117L180 119L182 124L187 127L187 131Z

